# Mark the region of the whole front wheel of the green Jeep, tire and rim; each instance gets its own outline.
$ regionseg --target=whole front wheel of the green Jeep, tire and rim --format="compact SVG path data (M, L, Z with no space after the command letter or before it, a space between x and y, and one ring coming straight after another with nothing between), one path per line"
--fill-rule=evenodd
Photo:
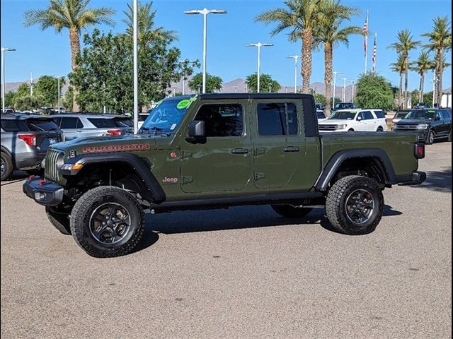
M71 212L71 233L86 253L100 258L130 253L142 239L144 213L124 189L101 186L86 192Z

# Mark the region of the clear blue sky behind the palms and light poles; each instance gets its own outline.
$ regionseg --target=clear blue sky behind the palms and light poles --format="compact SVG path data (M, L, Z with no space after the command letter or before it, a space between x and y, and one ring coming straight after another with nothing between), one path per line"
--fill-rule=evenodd
M144 0L142 0L144 1ZM344 4L357 6L361 16L352 19L352 25L362 27L366 12L369 11L369 30L377 32L377 71L394 85L398 84L398 74L389 70L389 64L396 59L396 52L387 49L396 40L396 32L409 29L418 40L423 32L429 32L432 18L451 18L452 3L447 0L343 0ZM44 8L48 0L1 0L1 46L16 48L16 52L6 53L6 82L25 81L33 72L33 77L42 75L66 75L70 71L69 37L67 31L58 34L55 30L41 31L38 27L23 26L23 12L28 8ZM122 32L125 25L123 10L127 1L91 0L91 6L110 6L117 13L113 28L100 26L101 30ZM253 18L270 8L283 6L282 0L154 0L157 10L156 24L168 30L176 30L179 40L175 45L181 49L183 58L202 59L202 16L187 16L189 9L219 8L226 15L208 16L208 59L207 71L221 76L226 81L245 78L256 71L256 48L245 47L249 42L272 42L274 47L266 47L262 54L262 72L270 73L282 85L294 83L294 61L289 55L300 54L300 42L290 43L285 34L270 37L272 25L255 23ZM91 29L90 29L91 30ZM369 37L369 59L373 38ZM411 53L416 59L420 50ZM452 62L451 52L447 60ZM339 76L356 79L364 71L363 37L352 36L349 47L339 46L334 52L334 70ZM431 88L430 79L425 88ZM444 73L444 88L451 87L452 71ZM313 55L311 83L323 82L323 52ZM299 79L299 83L302 82ZM410 73L409 88L418 88L419 77Z

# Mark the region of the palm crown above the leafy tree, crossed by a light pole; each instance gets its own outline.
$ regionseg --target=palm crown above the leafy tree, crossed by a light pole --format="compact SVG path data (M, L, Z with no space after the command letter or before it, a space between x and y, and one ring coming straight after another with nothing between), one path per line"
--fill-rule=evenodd
M156 17L156 11L152 11L153 1L147 4L140 4L138 6L137 18L138 18L138 40L139 42L146 43L152 38L162 38L168 40L177 40L178 35L174 30L164 30L163 27L159 26L154 28L154 18ZM127 11L123 11L126 18L122 20L127 25L126 33L132 37L134 32L134 7L132 4L127 4Z

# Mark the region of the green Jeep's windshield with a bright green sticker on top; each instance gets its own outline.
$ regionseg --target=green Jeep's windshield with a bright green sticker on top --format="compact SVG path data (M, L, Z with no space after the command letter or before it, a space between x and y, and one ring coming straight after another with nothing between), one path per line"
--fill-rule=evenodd
M195 98L164 100L149 113L140 128L141 133L173 133Z

